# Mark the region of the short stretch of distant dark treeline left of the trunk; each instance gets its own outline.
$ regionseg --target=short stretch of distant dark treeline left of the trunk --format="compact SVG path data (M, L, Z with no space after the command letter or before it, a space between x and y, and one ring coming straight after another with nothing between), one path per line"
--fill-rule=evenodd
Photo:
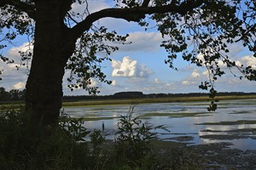
M3 101L22 101L25 100L26 89L12 89L6 91L5 88L0 88L0 102Z

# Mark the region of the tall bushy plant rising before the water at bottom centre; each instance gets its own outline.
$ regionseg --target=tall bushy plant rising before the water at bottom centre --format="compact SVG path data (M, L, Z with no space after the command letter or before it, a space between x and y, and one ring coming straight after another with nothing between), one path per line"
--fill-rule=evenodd
M154 130L166 128L154 127L152 123L143 122L137 116L133 116L135 106L132 105L129 113L121 116L118 122L118 131L115 137L116 154L119 160L129 162L134 167L152 166L154 150L150 142L156 138L157 133ZM145 169L148 169L146 167Z

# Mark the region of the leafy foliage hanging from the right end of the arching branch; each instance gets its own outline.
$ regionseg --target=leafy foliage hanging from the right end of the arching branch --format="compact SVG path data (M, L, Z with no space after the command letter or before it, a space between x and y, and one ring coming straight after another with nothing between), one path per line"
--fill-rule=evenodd
M247 11L241 8L242 3L247 4ZM157 21L159 31L163 37L170 37L169 40L161 44L169 53L166 64L173 65L173 59L177 59L178 54L182 54L183 59L197 66L205 66L209 72L209 82L201 85L200 88L214 88L213 82L217 77L224 75L224 71L218 65L222 60L230 67L236 67L249 80L255 78L255 70L245 68L243 65L236 65L236 62L229 58L229 45L238 42L248 27L255 27L255 20L250 20L247 26L245 19L241 20L239 14L253 14L254 3L247 1L208 1L202 4L201 8L195 8L187 14L153 14L152 19ZM250 6L250 7L249 7ZM251 15L252 16L252 15ZM243 45L248 46L255 54L255 29L247 32L251 37L250 41L244 41ZM254 44L254 45L252 45ZM203 59L198 58L201 54ZM247 71L251 69L250 71Z

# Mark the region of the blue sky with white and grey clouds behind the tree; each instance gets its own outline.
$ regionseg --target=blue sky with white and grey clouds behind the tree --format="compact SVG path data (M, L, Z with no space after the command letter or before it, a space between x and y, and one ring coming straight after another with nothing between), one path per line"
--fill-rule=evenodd
M92 1L89 4L91 13L111 5L103 0ZM79 11L83 7L73 5L73 8ZM128 33L130 36L127 41L132 42L119 46L119 50L109 56L112 61L108 60L102 63L102 71L106 74L107 79L112 81L112 84L108 85L92 80L92 86L99 87L101 91L99 95L123 91L141 91L143 94L207 93L198 88L201 82L208 80L207 69L189 64L180 58L174 61L178 71L169 68L165 64L166 50L160 48L163 38L160 32L154 28L145 31L137 23L110 18L99 20L95 24L106 26L109 30L115 30L121 35ZM3 51L5 56L15 59L15 63L6 65L0 61L0 68L3 69L3 75L0 76L3 78L0 81L0 87L4 87L6 90L25 88L28 70L26 67L22 67L17 71L15 65L20 65L19 51L24 51L27 48L27 38L19 37L13 45L9 45ZM238 64L252 65L256 69L256 58L253 58L253 54L244 49L241 44L230 46L230 56ZM223 63L219 62L219 65L224 68ZM234 77L229 70L224 68L224 71L226 74L218 78L215 83L219 92L256 92L256 82L240 80ZM236 72L236 70L232 71ZM67 88L67 77L68 71L63 78L64 95L88 94L84 89L75 89L71 92Z

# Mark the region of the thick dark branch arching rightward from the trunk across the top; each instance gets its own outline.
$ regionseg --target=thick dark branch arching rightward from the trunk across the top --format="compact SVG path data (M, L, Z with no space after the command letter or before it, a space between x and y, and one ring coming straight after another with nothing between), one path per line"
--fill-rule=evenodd
M143 6L136 8L105 8L96 13L88 15L83 21L81 21L78 25L74 26L73 36L79 37L84 31L88 31L90 26L96 20L100 20L102 18L116 18L116 19L124 19L127 21L136 21L145 18L145 14L164 14L164 13L177 13L177 14L186 14L188 11L200 7L204 0L195 0L195 1L185 1L180 5L176 5L174 3L157 6L157 7L147 7L149 0L144 0Z

